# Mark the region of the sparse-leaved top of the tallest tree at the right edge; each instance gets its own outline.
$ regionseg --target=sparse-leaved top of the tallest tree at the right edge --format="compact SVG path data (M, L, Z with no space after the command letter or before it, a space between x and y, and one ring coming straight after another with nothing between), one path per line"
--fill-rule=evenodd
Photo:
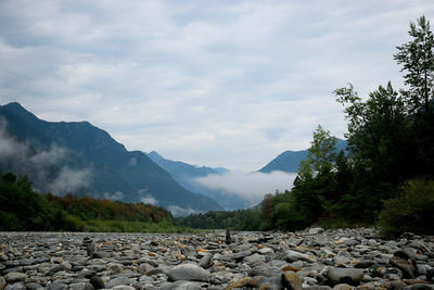
M430 112L430 100L434 94L434 37L430 22L421 16L417 24L410 23L408 34L412 39L396 47L399 52L394 55L398 64L403 64L401 72L406 72L405 84L410 86L403 93L409 103L409 112L421 109Z

